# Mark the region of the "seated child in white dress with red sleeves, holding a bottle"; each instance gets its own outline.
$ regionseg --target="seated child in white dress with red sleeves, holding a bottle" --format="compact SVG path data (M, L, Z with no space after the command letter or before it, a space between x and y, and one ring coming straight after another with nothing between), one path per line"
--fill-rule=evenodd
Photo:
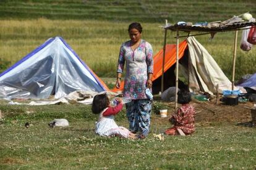
M95 127L96 134L99 134L100 136L119 136L136 139L135 134L126 129L126 127L117 126L114 121L114 115L117 115L117 113L122 110L123 106L121 98L117 98L116 100L118 102L116 107L111 107L106 94L98 94L93 98L92 112L100 114Z

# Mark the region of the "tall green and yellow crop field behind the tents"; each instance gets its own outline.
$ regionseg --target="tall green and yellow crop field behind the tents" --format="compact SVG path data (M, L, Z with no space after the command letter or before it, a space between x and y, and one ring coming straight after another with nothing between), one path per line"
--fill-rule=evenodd
M223 21L247 11L255 15L254 4L253 0L1 1L0 59L4 65L10 62L9 67L48 38L62 36L98 76L113 77L119 47L129 39L130 22L142 23L143 39L152 44L156 54L163 47L164 33L159 26L164 25L165 19L173 24ZM212 41L209 37L197 36L197 39L231 79L234 32L218 33ZM240 39L241 31L238 42ZM168 43L175 43L174 33L168 32ZM239 45L236 79L255 73L255 49L243 52ZM1 63L0 71L3 71L6 67Z

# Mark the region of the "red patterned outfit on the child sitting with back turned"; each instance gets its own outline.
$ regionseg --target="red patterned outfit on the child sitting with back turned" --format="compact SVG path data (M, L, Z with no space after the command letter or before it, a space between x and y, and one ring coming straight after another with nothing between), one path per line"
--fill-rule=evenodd
M186 135L195 132L195 108L192 105L182 105L170 119L172 118L175 122L174 126L166 129L165 134L177 135L179 134L177 129L181 129Z

